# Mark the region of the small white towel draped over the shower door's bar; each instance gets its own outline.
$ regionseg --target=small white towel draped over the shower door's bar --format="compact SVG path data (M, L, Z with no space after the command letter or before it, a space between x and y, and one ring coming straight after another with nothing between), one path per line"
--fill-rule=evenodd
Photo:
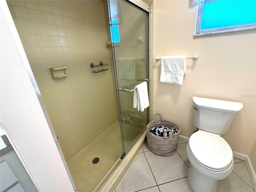
M149 106L148 100L148 84L143 82L134 87L133 92L133 107L138 108L138 111L144 111Z

